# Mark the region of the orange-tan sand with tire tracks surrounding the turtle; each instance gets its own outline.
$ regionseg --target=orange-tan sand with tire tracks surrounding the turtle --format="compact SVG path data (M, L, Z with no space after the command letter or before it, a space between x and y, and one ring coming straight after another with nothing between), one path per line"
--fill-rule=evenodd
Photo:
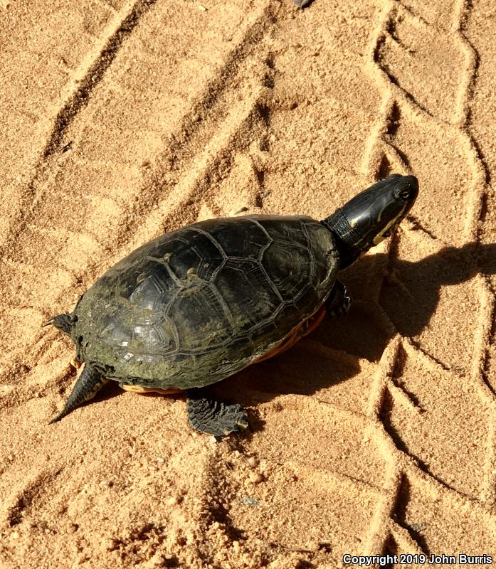
M496 556L494 3L0 15L0 567ZM120 257L240 211L320 219L390 172L420 196L344 272L347 319L216 385L248 432L113 383L48 425L75 350L41 325Z

